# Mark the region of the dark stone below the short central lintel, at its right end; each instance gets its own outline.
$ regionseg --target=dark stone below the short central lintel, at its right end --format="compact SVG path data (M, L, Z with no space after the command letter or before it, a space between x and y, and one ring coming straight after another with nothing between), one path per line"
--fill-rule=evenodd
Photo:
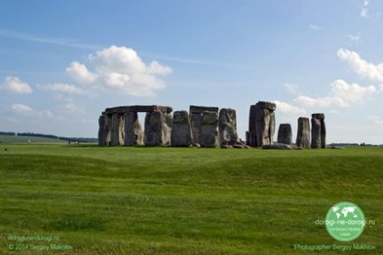
M207 111L202 113L200 137L201 146L218 147L220 146L219 140L217 112Z

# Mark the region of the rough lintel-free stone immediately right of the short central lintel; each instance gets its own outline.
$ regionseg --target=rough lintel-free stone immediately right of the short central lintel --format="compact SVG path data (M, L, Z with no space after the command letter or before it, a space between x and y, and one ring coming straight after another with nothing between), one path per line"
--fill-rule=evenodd
M235 109L220 109L219 131L220 143L235 144L238 142L237 114Z

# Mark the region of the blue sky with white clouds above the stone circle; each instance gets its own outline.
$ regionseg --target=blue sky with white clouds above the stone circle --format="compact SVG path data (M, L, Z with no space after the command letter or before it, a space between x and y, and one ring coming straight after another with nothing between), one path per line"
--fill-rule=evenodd
M383 144L383 2L0 2L0 130L97 137L107 107L326 115L328 142ZM143 118L143 116L141 116Z

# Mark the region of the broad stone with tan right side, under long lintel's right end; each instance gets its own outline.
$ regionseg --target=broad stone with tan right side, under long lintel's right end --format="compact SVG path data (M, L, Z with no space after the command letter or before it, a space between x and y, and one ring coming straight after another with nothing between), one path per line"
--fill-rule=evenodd
M147 112L145 116L145 146L170 145L172 115L166 112Z

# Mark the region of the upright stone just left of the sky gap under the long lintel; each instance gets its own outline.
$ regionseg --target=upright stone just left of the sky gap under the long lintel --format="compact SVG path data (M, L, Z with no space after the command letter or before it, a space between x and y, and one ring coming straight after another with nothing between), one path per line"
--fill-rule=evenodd
M138 121L137 112L126 112L125 118L125 146L144 145L144 132Z

